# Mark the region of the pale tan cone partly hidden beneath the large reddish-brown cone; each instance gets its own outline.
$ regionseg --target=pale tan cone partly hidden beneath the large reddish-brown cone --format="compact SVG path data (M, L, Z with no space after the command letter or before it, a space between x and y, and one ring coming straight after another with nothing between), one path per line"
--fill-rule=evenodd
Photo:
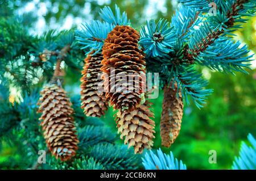
M151 120L154 114L150 111L147 101L129 112L120 110L115 115L120 138L125 136L125 144L134 146L134 153L142 153L144 148L150 149L153 145L155 123Z

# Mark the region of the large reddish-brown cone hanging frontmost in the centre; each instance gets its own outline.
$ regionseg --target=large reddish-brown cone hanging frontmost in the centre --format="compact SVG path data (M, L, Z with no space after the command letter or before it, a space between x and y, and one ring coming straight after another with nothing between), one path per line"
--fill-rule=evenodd
M117 110L133 111L146 87L146 61L138 48L139 33L129 26L116 26L108 34L102 48L101 70L104 89L110 104Z

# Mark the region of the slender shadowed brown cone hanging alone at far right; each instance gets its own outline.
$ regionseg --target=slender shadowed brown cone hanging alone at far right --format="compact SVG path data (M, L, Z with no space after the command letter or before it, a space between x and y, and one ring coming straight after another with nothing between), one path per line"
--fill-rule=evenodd
M160 123L160 134L162 145L170 147L179 135L181 128L181 119L183 116L183 100L181 90L179 89L179 98L177 98L177 84L174 89L171 85L164 87L163 111Z

